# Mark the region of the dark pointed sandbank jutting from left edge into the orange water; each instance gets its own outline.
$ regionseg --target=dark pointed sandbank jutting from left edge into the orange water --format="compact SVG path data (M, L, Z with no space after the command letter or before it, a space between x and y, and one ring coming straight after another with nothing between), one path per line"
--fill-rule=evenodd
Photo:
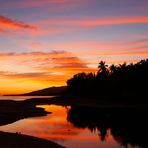
M26 101L0 100L0 126L24 118L46 116L49 113Z

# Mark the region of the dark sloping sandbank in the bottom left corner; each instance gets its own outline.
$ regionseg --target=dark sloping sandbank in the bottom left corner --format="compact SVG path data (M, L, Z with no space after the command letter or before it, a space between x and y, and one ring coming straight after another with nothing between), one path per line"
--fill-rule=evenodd
M22 135L21 133L0 132L1 148L64 148L49 140Z

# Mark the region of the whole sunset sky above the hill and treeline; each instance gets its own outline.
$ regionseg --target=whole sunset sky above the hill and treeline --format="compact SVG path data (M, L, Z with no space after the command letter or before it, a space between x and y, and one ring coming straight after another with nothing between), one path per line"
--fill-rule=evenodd
M148 0L0 0L0 94L146 58Z

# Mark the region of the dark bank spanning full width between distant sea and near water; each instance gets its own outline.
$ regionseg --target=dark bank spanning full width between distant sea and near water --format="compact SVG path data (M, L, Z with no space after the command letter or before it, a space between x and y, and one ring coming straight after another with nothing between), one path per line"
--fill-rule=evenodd
M50 114L37 105L61 105L97 108L148 108L147 103L105 102L98 99L81 99L68 97L32 98L24 101L0 100L0 126L11 124L21 119L41 117Z

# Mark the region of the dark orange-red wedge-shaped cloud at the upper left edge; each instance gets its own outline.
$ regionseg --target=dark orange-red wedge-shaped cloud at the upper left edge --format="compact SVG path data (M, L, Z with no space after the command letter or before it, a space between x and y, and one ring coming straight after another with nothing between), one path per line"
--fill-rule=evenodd
M20 21L12 20L5 16L0 16L0 30L5 31L7 29L35 29L34 26L25 24Z

